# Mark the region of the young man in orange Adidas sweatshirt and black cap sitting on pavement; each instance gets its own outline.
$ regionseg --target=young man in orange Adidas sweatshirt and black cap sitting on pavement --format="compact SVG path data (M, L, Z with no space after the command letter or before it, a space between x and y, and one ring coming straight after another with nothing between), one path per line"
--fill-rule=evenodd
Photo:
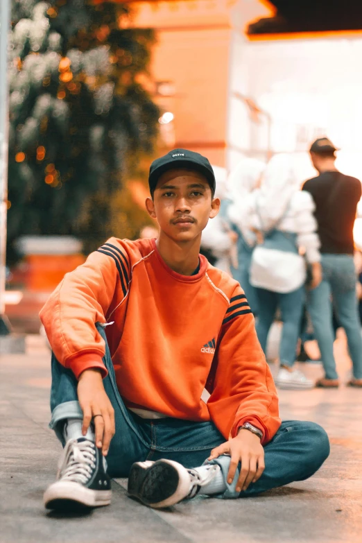
M49 509L109 504L110 476L153 508L247 497L307 479L329 454L318 424L279 419L245 294L199 255L220 206L209 161L175 149L149 184L157 241L109 239L41 311L64 445Z

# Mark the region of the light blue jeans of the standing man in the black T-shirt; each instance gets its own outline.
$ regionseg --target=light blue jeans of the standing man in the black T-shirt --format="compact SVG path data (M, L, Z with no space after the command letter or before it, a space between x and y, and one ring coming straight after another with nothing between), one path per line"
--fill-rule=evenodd
M353 375L362 379L361 322L356 298L356 272L350 255L322 255L323 280L307 294L314 334L322 356L325 377L338 379L333 354L332 303L347 335Z

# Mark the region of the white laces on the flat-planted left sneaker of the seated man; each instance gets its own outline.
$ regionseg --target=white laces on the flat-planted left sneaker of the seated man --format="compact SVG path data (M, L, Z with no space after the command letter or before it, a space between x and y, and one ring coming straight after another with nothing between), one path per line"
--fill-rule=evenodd
M57 479L85 484L96 467L96 450L92 441L69 440L64 447Z

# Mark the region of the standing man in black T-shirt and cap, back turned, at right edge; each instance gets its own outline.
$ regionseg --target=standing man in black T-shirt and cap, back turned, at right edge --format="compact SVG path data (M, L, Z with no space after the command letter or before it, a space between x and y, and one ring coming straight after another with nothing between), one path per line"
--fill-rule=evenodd
M325 370L325 377L317 381L316 386L336 388L339 385L333 354L332 299L338 321L347 334L353 363L352 379L347 384L362 388L361 322L353 261L353 226L361 198L361 182L336 169L336 150L326 137L314 141L311 161L319 175L309 179L303 187L316 203L322 253L322 282L308 293L309 312Z

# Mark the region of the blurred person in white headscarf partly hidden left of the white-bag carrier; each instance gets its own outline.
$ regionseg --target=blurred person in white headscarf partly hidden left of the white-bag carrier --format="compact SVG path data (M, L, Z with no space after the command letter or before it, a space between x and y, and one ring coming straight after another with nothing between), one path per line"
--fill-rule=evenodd
M250 309L255 316L258 315L258 300L254 286L250 284L250 262L252 250L257 238L255 232L250 230L245 217L248 216L250 198L259 186L261 175L266 164L253 158L244 158L230 173L227 180L228 198L230 205L227 208L227 216L233 230L237 234L237 263L231 266L232 277L239 281L245 291Z

